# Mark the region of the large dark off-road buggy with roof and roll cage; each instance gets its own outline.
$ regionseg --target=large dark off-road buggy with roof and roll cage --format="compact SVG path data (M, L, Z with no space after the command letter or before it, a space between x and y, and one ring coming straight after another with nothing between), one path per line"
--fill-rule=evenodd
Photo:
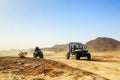
M91 59L91 55L90 55L90 53L88 53L86 46L79 42L70 42L69 43L69 52L66 55L67 59L70 58L70 55L75 55L76 60L79 60L80 57L87 57L88 60Z

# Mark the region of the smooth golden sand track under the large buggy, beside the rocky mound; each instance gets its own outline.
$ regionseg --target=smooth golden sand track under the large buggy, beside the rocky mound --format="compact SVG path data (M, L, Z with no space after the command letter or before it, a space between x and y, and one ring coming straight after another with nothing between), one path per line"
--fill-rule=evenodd
M59 53L54 56L48 56L47 58L66 63L74 68L98 74L110 80L120 80L120 54L118 53L95 53L92 54L91 61L87 61L86 58L75 60L74 56L67 60L64 54Z

